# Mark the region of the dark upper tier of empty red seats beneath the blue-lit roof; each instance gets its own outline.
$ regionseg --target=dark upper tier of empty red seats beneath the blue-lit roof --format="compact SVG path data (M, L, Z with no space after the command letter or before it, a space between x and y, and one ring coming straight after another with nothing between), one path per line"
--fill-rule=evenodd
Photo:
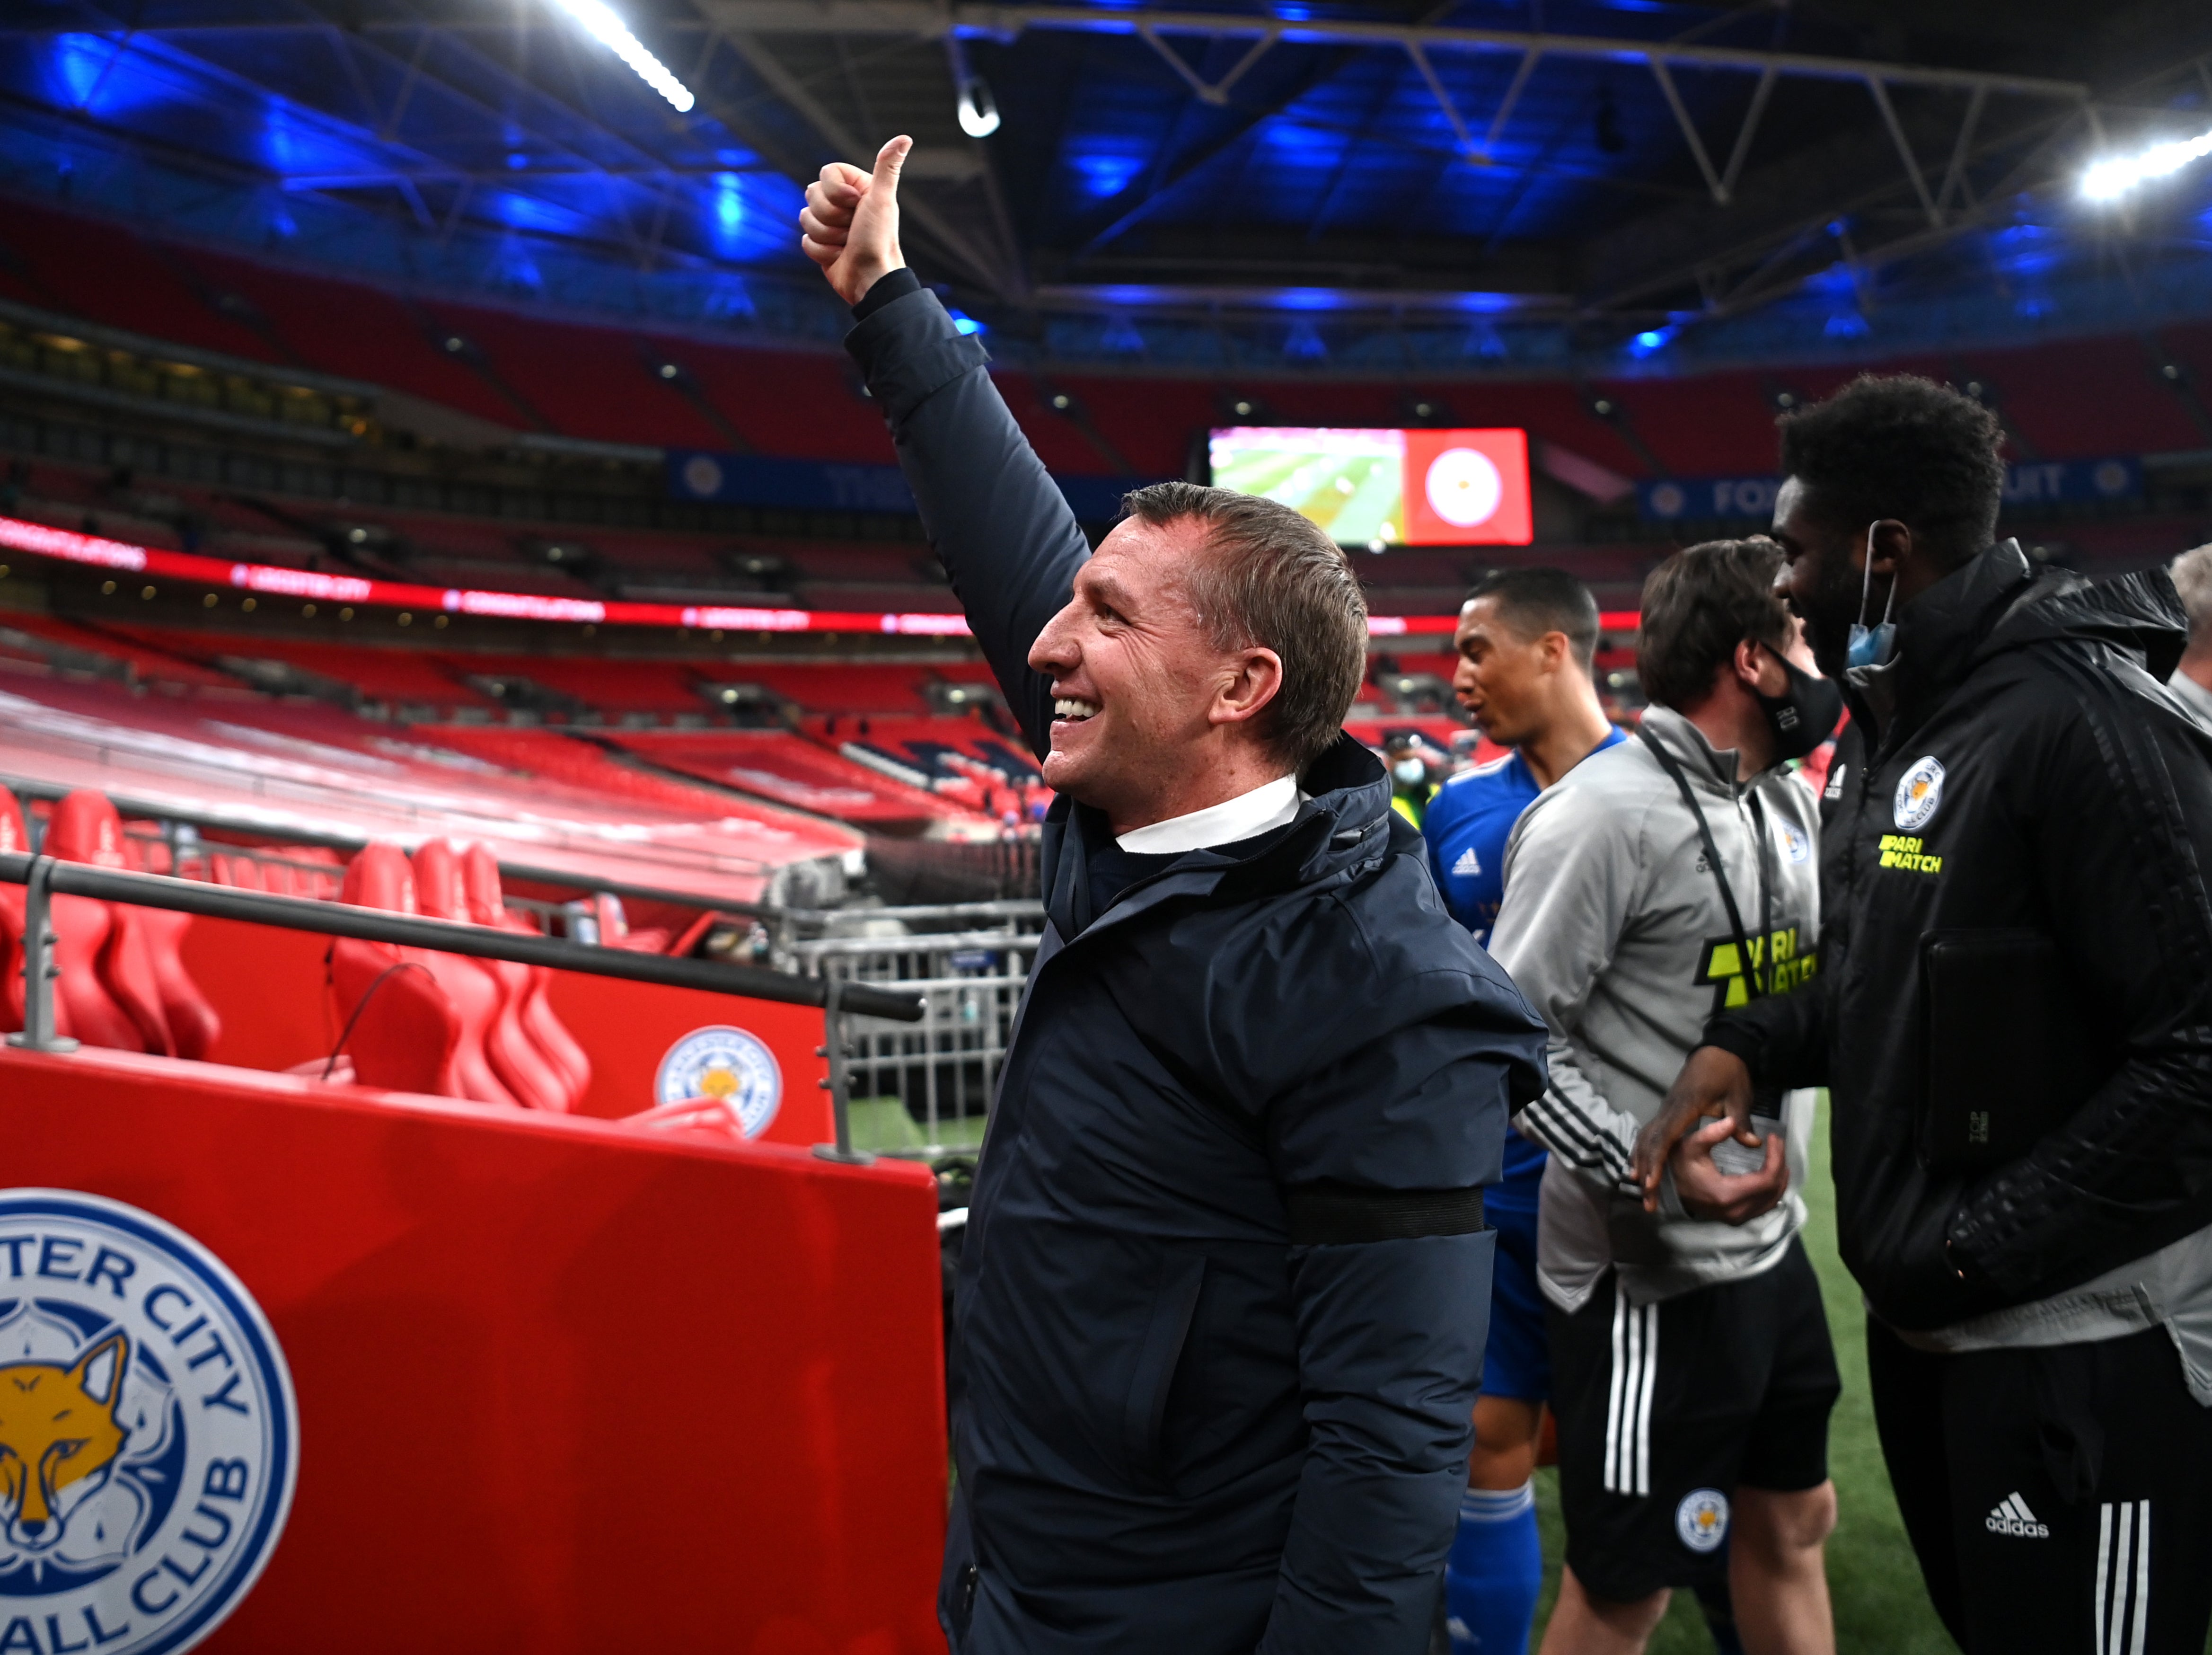
M4 292L144 339L239 363L369 381L487 427L657 447L887 465L876 409L841 354L734 347L484 303L407 299L279 263L142 237L111 221L11 204ZM345 327L327 325L343 314ZM2212 436L2168 361L2212 372L2208 330L2053 341L1964 358L1898 356L1774 372L1648 374L1597 383L1402 385L1000 374L1046 462L1071 476L1179 476L1210 425L1522 425L1626 478L1756 476L1774 465L1776 398L1820 396L1856 372L1927 372L1991 387L2022 447L2097 458L2201 447ZM1659 367L1661 363L1655 363ZM1243 400L1254 412L1239 416ZM1429 409L1416 416L1416 400ZM2024 456L2031 458L2031 456Z

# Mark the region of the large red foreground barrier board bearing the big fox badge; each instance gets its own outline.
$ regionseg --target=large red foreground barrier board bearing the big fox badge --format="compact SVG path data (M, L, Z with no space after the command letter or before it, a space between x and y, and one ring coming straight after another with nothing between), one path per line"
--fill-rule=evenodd
M204 1609L223 1655L942 1651L925 1168L93 1049L0 1051L0 1361L113 1412L71 1429L124 1467L11 1522L0 1646L177 1648ZM124 1418L126 1370L173 1414ZM131 1478L126 1544L93 1520Z

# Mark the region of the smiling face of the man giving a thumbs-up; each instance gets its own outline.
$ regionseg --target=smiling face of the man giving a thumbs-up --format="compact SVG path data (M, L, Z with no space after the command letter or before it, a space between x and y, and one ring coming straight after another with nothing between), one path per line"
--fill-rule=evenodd
M1115 524L1029 650L1057 699L1044 781L1115 821L1155 819L1146 799L1208 761L1208 710L1241 670L1199 626L1183 580L1210 555L1203 533L1192 520Z

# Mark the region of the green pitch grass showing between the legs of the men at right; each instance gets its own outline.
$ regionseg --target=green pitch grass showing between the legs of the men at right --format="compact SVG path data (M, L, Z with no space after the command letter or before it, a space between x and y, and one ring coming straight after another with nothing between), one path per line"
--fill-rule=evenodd
M1920 1584L1920 1564L1905 1540L1898 1502L1882 1469L1882 1445L1874 1436L1874 1398L1867 1394L1867 1312L1858 1283L1836 1257L1836 1186L1827 1170L1827 1100L1812 1142L1812 1184L1805 1190L1812 1221L1805 1250L1820 1272L1827 1328L1843 1367L1843 1401L1829 1423L1827 1465L1836 1478L1836 1536L1827 1542L1827 1589L1836 1604L1836 1648L1882 1655L1955 1655ZM1559 1593L1559 1558L1566 1531L1559 1524L1559 1474L1537 1471L1537 1522L1544 1529L1544 1597L1537 1604L1537 1637ZM1535 1642L1531 1642L1535 1648ZM1652 1655L1712 1655L1712 1635L1697 1597L1674 1593L1666 1620L1650 1642Z

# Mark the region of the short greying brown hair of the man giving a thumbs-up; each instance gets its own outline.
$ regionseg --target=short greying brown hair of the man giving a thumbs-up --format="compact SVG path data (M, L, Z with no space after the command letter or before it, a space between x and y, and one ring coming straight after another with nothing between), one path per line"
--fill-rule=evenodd
M1121 498L1124 516L1164 529L1194 520L1210 558L1186 571L1214 648L1272 648L1283 688L1261 735L1292 770L1334 746L1367 679L1367 595L1343 547L1290 507L1234 489L1155 482Z

